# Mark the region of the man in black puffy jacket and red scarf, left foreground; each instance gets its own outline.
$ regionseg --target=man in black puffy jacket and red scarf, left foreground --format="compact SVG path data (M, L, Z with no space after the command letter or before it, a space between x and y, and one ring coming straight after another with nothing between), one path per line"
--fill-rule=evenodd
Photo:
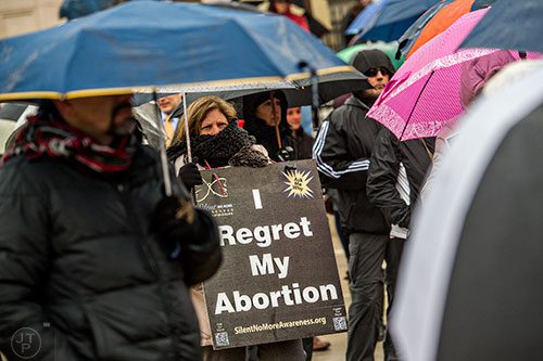
M131 134L129 95L45 102L0 168L0 352L200 360L189 285L218 269L211 216ZM17 331L18 330L18 331ZM35 337L34 339L37 339ZM33 345L30 345L33 346Z

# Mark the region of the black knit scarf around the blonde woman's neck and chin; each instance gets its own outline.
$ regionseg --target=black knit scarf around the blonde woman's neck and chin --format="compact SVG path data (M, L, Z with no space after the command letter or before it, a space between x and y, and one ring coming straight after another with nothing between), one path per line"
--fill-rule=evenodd
M229 163L230 158L243 147L251 147L255 142L254 137L238 127L236 120L231 120L228 127L216 136L190 137L192 160L203 167L206 165L212 168L226 167L232 165ZM187 140L185 139L172 144L167 150L169 162L175 162L185 154L187 154Z

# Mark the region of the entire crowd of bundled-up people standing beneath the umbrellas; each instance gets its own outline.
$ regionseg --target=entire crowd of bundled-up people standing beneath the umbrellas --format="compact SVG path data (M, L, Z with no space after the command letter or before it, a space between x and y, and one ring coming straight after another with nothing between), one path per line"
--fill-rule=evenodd
M268 10L310 31L291 5L272 0ZM498 51L466 62L463 106L514 61ZM214 218L191 193L204 169L314 159L349 262L345 359L374 360L383 339L384 360L402 360L383 317L394 307L414 209L455 133L445 127L437 139L400 141L367 116L396 72L391 59L362 50L352 65L367 89L336 102L315 132L281 90L244 95L238 109L216 95L188 107L182 93L161 96L140 108L154 112L159 133L132 113L130 94L40 101L0 167L0 354L17 360L10 335L26 325L40 335L42 360L312 360L330 343L213 348L203 282L223 254Z

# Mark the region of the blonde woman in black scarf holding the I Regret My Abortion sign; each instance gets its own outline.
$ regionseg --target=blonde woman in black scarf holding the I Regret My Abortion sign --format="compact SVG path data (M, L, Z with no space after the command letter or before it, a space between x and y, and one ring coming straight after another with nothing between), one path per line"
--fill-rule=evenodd
M236 121L236 109L217 96L203 96L193 102L188 111L189 139L192 158L187 156L187 136L181 131L168 149L168 159L174 163L176 172L185 180L190 169L190 179L198 178L198 169L218 167L265 167L270 164L266 150L255 144L255 139L239 128ZM185 127L182 127L185 129ZM185 176L184 176L185 175ZM201 178L200 178L201 183ZM193 186L187 184L188 186ZM192 288L192 302L200 321L201 345L204 360L239 361L245 360L245 347L213 350L212 333L207 310L203 298L202 285ZM293 360L302 361L305 354L302 341L288 340L258 346L258 360Z

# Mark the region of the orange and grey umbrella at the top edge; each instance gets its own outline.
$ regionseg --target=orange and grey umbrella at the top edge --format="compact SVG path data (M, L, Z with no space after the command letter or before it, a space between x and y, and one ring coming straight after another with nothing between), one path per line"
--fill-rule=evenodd
M446 30L462 15L490 7L495 0L446 0L422 14L400 38L400 51L409 57L417 49Z

